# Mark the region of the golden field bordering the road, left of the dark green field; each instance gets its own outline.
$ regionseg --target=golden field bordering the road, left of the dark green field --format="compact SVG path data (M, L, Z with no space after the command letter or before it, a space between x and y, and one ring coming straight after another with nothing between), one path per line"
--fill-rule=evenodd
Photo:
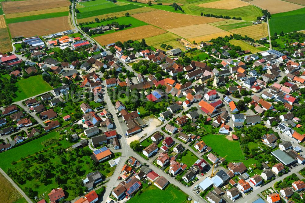
M229 31L235 34L240 34L242 36L247 35L248 37L251 37L255 40L268 36L268 28L266 23L248 26L248 27L242 27Z

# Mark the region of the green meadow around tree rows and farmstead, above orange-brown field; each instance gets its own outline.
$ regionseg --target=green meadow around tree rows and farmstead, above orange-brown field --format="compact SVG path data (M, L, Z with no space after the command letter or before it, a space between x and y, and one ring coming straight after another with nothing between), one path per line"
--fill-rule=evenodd
M148 25L147 23L141 21L141 20L138 20L134 17L119 17L117 19L114 19L114 20L106 20L106 21L103 21L103 22L100 22L100 23L92 23L92 24L88 24L88 25L84 25L84 27L98 27L98 26L101 26L101 25L107 25L107 24L111 24L112 22L118 22L120 25L128 25L129 23L131 23L131 27L128 27L128 28L133 28L133 27L140 27L140 26L143 26L143 25ZM125 30L126 28L124 28ZM108 33L106 31L106 33Z

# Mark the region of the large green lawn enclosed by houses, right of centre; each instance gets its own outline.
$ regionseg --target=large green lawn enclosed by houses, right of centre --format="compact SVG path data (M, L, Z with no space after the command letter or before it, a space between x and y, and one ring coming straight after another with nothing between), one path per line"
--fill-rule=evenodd
M208 134L201 138L213 151L226 157L227 161L244 160L242 149L238 141L229 141L225 135Z

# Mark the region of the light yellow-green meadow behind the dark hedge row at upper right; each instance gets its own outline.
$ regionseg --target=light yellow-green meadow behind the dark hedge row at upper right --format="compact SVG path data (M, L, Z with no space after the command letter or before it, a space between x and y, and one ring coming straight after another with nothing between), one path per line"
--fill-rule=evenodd
M214 15L230 16L231 18L233 16L241 17L242 20L256 20L257 16L262 15L261 10L254 5L248 5L248 6L243 6L243 7L236 8L236 9L226 10L226 9L210 9L210 8L203 8L203 7L197 6L200 3L206 3L206 2L199 1L196 3L187 4L187 5L184 5L181 7L182 7L182 9L184 9L186 14L191 14L191 15L195 15L195 16L199 16L200 13L203 12L206 14L211 13Z

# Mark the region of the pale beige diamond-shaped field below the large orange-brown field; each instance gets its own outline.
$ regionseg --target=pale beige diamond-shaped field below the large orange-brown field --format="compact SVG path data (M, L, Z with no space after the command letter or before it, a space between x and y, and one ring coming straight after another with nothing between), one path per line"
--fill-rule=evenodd
M177 34L183 38L189 39L193 37L199 37L202 35L220 33L223 32L224 30L221 30L220 28L215 27L213 25L204 23L199 25L190 25L185 27L168 29L167 31Z

